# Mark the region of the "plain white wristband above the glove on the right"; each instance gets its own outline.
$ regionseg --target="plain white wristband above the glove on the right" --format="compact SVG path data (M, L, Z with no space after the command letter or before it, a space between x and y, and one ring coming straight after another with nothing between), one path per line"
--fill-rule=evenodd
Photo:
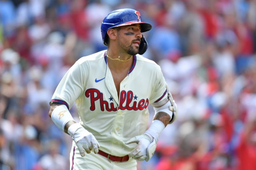
M165 126L162 121L154 120L148 130L145 131L145 133L148 133L151 135L155 140L156 143L158 141L159 134L164 130Z

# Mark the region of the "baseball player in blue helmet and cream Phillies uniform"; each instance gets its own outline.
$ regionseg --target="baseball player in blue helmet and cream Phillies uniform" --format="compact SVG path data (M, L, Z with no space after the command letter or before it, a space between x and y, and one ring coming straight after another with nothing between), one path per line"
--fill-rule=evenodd
M160 67L142 56L148 43L141 33L151 28L139 11L112 11L101 24L108 49L80 58L56 88L49 116L73 138L71 170L136 169L175 120L177 105ZM69 113L74 102L80 122ZM156 113L147 129L149 104Z

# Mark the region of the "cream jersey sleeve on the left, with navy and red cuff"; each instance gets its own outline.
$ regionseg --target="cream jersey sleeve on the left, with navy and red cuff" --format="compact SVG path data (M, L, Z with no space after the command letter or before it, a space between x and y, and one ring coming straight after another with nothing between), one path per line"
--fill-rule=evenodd
M76 99L84 92L85 84L85 72L76 62L61 79L50 104L52 102L62 103L70 109Z

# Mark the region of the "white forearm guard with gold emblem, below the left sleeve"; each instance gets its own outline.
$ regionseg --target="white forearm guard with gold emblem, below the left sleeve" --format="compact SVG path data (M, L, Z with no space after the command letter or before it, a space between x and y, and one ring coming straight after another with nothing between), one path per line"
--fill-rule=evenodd
M60 105L52 111L52 122L64 132L65 124L69 121L74 121L67 106Z

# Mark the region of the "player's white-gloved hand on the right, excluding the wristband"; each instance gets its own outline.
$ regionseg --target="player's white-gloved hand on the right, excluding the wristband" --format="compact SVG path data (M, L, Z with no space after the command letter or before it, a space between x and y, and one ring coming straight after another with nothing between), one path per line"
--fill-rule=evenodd
M156 150L156 140L148 133L135 136L128 140L125 144L138 144L137 147L129 154L135 160L148 161Z

